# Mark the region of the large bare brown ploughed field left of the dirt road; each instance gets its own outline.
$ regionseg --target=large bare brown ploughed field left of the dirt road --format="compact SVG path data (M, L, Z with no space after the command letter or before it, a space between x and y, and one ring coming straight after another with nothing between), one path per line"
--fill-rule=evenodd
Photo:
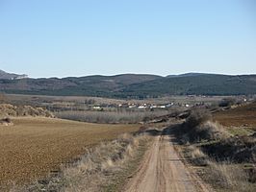
M13 123L0 126L0 186L43 179L91 146L124 132L136 132L140 127L43 117L13 118Z

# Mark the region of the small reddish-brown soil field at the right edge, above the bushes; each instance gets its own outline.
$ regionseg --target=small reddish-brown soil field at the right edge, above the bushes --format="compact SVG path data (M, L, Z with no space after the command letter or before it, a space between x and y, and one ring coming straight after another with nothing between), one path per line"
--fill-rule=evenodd
M256 130L256 103L219 111L214 119L223 126L249 127Z

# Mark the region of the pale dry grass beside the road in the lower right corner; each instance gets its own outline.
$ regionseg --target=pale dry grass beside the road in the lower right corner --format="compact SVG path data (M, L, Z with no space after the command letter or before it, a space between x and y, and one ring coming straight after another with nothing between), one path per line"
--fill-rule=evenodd
M192 165L200 167L197 168L199 176L217 191L255 191L255 183L249 181L253 178L245 172L243 165L235 164L231 161L218 162L204 154L200 148L194 145L185 147L184 155Z

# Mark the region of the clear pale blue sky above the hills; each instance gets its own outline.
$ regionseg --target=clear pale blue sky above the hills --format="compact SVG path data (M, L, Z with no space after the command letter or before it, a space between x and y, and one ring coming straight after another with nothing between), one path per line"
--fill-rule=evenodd
M256 73L254 0L0 0L0 69Z

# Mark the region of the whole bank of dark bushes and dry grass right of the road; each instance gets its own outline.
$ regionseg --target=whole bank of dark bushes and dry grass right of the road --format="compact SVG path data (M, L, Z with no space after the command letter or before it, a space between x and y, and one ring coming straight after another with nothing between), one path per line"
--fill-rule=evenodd
M255 191L255 133L234 136L212 122L205 111L192 111L173 133L182 141L181 148L188 162L197 166L198 175L215 189Z

